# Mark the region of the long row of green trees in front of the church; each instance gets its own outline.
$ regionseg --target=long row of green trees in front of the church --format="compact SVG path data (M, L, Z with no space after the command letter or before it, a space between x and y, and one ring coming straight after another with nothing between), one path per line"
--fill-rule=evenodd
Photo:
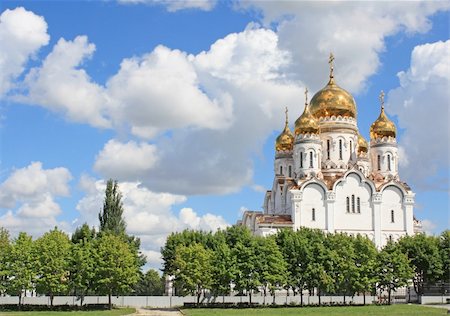
M391 292L411 280L419 295L426 283L450 278L450 231L439 237L418 234L377 250L360 235L325 234L302 228L270 237L253 236L242 226L215 234L185 230L172 233L161 250L164 274L174 276L177 294L205 290L214 296L286 289L353 296L376 289ZM274 297L275 299L275 297ZM365 300L365 298L364 298Z

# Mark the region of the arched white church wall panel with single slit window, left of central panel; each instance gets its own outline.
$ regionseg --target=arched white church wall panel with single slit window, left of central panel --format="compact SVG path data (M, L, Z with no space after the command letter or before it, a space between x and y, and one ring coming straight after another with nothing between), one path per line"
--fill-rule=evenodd
M303 189L300 218L301 226L326 229L325 192L318 184L309 184Z

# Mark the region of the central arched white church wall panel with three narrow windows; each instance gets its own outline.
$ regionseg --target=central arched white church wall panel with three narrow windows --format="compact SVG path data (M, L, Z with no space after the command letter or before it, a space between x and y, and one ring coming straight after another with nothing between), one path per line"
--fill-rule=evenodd
M336 186L334 226L336 230L373 230L372 190L357 174L349 174ZM347 212L347 197L349 199ZM353 198L354 197L354 198ZM358 208L359 198L359 208ZM358 212L359 211L359 212Z

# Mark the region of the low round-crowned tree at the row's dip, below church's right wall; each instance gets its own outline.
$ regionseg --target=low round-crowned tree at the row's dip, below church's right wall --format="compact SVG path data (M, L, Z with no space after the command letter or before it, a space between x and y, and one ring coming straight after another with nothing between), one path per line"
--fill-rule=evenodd
M414 271L410 266L408 257L400 250L397 244L388 244L378 253L377 257L378 288L388 291L388 302L391 303L391 292L406 286Z

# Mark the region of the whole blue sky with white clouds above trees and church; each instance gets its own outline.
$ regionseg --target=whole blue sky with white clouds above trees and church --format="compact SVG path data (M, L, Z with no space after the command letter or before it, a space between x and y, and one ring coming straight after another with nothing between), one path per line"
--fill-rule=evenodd
M0 226L97 224L120 181L151 265L165 236L235 223L272 185L304 87L335 77L368 138L386 92L400 177L449 226L448 2L3 1ZM311 95L312 96L312 95ZM311 97L310 96L310 97Z

